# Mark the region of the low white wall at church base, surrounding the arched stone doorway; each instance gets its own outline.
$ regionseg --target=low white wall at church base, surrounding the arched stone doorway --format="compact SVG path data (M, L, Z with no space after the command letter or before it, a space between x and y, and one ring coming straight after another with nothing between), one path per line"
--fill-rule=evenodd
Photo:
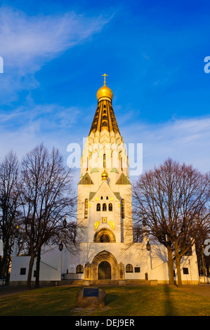
M72 254L71 250L73 251L73 246L69 246L69 251L64 248L62 252L58 250L58 246L45 246L41 254L40 281L59 281L62 273L70 272L70 265L71 267L74 265L74 272L76 272L77 265L85 267L85 264L91 263L101 251L112 253L118 264L121 262L124 264L125 270L127 264L133 265L132 273L124 273L125 279L145 279L145 273L147 273L148 279L157 279L159 283L169 281L167 253L162 245L151 245L150 251L147 251L145 243L133 244L129 249L126 244L122 243L81 243L79 251ZM29 256L13 257L11 282L27 281L28 267ZM140 267L140 272L135 272L135 267ZM20 268L26 268L25 275L20 275ZM183 274L183 268L188 268L188 275ZM34 262L33 272L35 269L36 263ZM174 270L176 274L175 265ZM198 282L195 249L192 249L192 256L182 258L181 275L186 284L190 284L191 281ZM34 279L33 273L32 279ZM79 279L84 279L84 274L79 274Z

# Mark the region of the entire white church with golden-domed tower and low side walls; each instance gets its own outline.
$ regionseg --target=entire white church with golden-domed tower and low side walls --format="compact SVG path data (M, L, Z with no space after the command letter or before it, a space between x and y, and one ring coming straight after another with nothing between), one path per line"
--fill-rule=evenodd
M133 243L129 159L112 108L112 96L104 83L97 92L98 106L81 156L77 202L79 248L72 252L71 244L64 246L63 251L58 246L44 246L41 284L61 280L81 285L100 281L169 283L166 248L150 244L145 235L142 242ZM13 256L11 285L27 282L29 258ZM183 284L198 284L195 248L190 256L183 256L181 275Z

